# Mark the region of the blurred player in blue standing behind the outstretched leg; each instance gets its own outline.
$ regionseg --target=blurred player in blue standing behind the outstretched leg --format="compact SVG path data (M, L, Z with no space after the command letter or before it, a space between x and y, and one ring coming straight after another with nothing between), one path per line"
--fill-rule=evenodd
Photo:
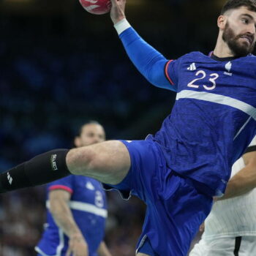
M97 121L80 128L75 146L105 140L105 130ZM47 225L35 247L40 256L111 256L103 241L108 216L106 195L94 178L67 176L47 186Z

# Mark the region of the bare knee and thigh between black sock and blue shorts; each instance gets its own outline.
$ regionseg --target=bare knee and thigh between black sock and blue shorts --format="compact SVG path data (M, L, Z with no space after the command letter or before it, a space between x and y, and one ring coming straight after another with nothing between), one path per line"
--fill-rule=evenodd
M124 143L109 140L67 154L67 168L75 175L89 176L108 184L118 184L129 171L129 151Z

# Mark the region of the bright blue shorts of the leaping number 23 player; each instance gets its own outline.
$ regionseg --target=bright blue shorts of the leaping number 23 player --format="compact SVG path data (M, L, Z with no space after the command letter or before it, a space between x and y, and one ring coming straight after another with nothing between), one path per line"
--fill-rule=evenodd
M148 255L185 256L200 224L211 211L212 197L195 189L188 178L167 167L161 146L153 140L121 140L129 151L131 168L120 184L110 185L124 197L136 195L146 205L140 249ZM147 239L149 244L144 244ZM144 245L144 246L143 246Z

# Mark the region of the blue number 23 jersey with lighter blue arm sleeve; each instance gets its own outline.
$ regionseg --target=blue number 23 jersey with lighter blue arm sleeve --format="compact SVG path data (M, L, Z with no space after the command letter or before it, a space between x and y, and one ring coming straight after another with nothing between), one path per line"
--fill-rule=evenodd
M139 71L177 92L156 135L167 165L208 195L222 195L231 166L256 134L256 58L216 61L200 52L168 61L129 28L120 34Z

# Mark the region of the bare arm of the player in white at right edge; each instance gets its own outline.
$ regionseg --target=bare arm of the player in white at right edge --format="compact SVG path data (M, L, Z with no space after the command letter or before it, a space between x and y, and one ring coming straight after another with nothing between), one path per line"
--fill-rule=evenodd
M223 197L217 200L224 200L230 197L237 197L256 187L256 151L248 152L243 156L245 167L235 176L230 178Z

